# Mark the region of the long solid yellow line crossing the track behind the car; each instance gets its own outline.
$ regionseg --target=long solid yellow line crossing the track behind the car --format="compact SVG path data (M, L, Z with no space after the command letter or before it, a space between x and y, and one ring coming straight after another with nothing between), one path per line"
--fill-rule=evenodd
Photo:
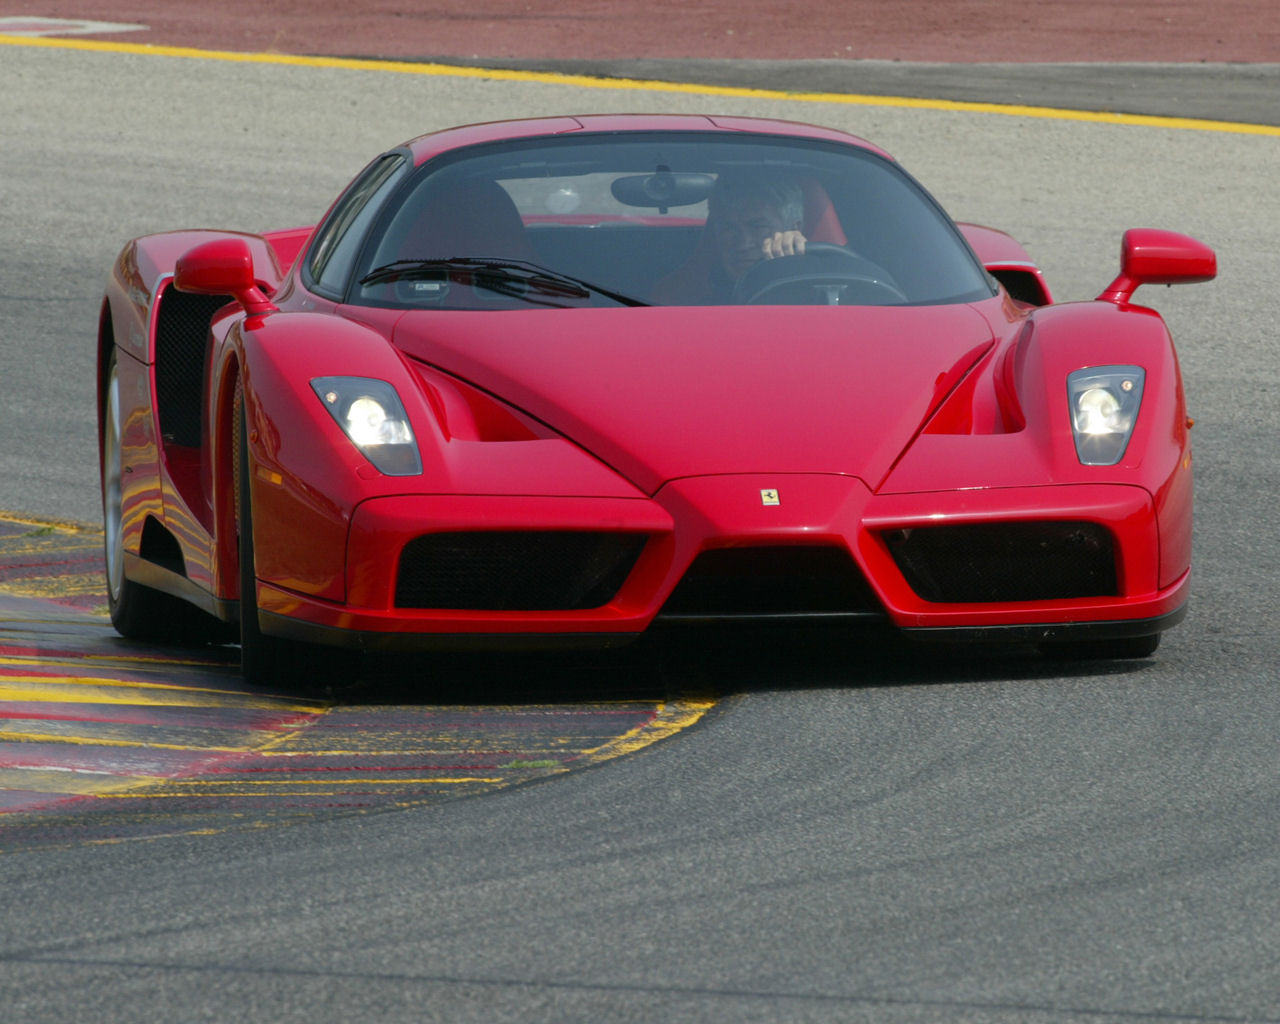
M275 64L303 68L340 68L361 72L390 72L393 74L420 74L442 78L484 78L497 82L532 82L550 86L576 86L579 88L611 90L616 92L677 92L692 96L724 96L733 99L785 100L803 104L836 104L846 106L884 106L908 110L943 110L966 114L998 114L1015 118L1044 118L1075 120L1092 124L1123 124L1140 128L1174 128L1190 132L1224 132L1280 137L1280 127L1248 124L1244 122L1208 120L1203 118L1167 118L1148 114L1112 114L1093 110L1061 110L1052 106L1024 106L1020 104L982 104L963 100L922 100L908 96L867 96L844 92L787 92L783 90L746 88L739 86L710 86L682 82L663 82L641 78L596 78L586 74L558 74L554 72L522 72L500 68L461 68L452 64L417 64L404 60L360 60L333 56L296 56L291 54L239 54L227 50L196 50L184 46L147 46L129 42L104 42L95 40L28 38L0 35L0 46L42 46L56 50L87 50L92 52L134 54L140 56L168 56L196 60L223 60L239 64Z

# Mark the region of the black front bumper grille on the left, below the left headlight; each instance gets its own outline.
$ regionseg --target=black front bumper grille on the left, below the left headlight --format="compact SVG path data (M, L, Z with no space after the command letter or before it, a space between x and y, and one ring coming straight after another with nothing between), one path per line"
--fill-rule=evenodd
M641 534L428 534L401 553L399 608L561 612L608 604L640 557Z

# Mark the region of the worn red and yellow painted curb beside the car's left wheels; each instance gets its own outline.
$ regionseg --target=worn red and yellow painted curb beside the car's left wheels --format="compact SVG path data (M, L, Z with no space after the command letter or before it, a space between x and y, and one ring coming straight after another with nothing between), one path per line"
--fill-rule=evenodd
M634 754L714 705L609 662L433 664L420 687L390 681L394 699L253 691L234 646L116 636L101 545L87 526L0 515L0 850L490 792Z

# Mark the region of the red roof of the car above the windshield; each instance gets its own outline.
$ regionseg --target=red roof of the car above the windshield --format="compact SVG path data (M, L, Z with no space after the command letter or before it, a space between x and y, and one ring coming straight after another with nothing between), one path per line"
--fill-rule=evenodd
M503 140L554 137L577 132L724 132L791 138L826 140L868 150L884 159L892 157L864 138L823 128L817 124L777 120L772 118L742 118L736 115L701 114L585 114L556 118L527 118L498 120L484 124L465 124L419 136L406 143L413 154L415 165L442 152Z

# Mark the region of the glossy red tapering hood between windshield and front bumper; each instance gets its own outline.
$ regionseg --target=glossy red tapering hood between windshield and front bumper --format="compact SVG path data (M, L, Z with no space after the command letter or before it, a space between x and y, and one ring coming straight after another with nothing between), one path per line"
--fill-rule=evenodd
M716 474L874 488L992 342L965 305L431 311L394 332L649 494Z

